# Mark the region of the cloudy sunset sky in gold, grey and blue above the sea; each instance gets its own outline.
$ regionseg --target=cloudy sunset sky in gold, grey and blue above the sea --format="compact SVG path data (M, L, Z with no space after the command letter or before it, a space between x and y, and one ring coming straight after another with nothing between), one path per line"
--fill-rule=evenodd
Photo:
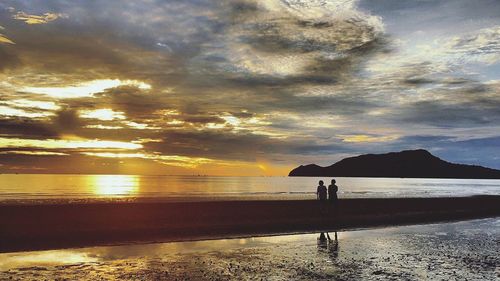
M496 0L0 2L0 172L500 168Z

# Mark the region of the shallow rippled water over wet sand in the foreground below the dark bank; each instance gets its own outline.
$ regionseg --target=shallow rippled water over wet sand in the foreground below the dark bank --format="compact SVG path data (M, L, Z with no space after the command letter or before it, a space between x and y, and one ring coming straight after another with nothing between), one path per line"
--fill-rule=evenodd
M334 238L333 233L330 233ZM0 254L13 280L498 280L500 218Z

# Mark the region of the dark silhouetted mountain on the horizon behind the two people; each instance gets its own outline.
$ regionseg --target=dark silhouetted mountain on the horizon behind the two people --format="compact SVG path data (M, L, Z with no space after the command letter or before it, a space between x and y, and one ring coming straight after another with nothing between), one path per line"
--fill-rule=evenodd
M301 165L288 176L500 179L500 170L446 162L418 149L349 157L328 167Z

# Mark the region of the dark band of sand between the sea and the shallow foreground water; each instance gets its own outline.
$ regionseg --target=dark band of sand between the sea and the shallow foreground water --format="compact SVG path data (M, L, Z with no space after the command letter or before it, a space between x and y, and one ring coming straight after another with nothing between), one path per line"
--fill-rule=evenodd
M0 205L0 252L345 230L500 215L500 196Z

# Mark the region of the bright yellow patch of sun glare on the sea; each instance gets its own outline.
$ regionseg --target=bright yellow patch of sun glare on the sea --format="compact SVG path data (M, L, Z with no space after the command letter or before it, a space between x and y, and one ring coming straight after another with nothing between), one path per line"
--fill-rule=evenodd
M89 176L89 185L99 196L130 196L139 191L139 177L133 175Z

